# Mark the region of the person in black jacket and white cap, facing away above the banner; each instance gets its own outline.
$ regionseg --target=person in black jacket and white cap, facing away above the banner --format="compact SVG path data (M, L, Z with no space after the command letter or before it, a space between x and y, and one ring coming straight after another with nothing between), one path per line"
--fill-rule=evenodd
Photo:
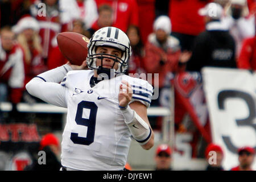
M206 31L197 36L187 71L200 72L203 67L236 68L236 43L228 26L221 21L221 5L209 3L199 14L204 16Z

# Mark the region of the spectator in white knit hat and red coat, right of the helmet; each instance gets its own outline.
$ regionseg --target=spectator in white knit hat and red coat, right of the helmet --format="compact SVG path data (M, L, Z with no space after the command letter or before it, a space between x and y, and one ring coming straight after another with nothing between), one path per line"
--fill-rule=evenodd
M171 36L171 20L168 16L159 16L153 25L154 32L148 36L148 41L144 47L144 68L147 73L152 73L152 86L159 91L159 97L152 100L151 106L163 106L160 103L162 89L166 86L166 77L168 73L177 73L184 70L183 65L188 61L191 53L181 53L179 40ZM158 80L155 74L158 74ZM165 100L164 100L165 101ZM150 118L151 122L156 122L160 127L162 118ZM154 123L152 123L154 126Z

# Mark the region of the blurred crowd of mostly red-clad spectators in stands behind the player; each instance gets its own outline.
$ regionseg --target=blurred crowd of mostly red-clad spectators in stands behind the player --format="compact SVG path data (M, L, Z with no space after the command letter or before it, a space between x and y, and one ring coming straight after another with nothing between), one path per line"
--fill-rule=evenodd
M159 97L151 106L166 106L166 88L178 73L200 73L205 66L256 70L255 11L254 0L1 0L0 102L11 102L13 114L19 102L42 102L24 86L67 63L57 34L90 38L114 26L130 39L126 74L158 73L159 82L154 75L151 84ZM181 115L175 96L175 123ZM160 129L161 119L152 121Z

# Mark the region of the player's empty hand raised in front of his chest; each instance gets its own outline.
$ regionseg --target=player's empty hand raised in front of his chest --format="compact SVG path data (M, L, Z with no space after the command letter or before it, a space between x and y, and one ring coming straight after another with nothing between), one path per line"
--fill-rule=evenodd
M118 101L119 106L126 107L133 97L133 90L129 82L122 80L122 84L119 86Z

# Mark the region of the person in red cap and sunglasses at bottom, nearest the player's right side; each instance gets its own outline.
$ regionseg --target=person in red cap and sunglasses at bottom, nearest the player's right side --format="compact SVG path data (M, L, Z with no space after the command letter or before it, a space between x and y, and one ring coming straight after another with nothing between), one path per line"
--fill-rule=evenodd
M172 150L168 144L160 144L155 153L155 171L171 171Z

